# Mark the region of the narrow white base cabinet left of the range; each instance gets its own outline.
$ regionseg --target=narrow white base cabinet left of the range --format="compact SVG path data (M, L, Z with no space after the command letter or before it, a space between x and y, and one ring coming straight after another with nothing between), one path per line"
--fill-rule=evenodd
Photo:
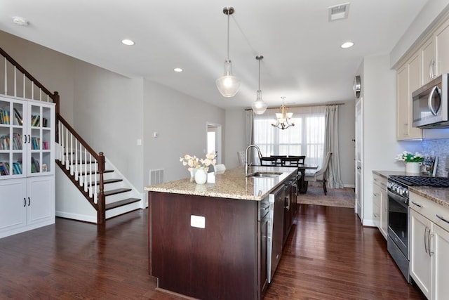
M373 221L387 240L387 178L373 173Z

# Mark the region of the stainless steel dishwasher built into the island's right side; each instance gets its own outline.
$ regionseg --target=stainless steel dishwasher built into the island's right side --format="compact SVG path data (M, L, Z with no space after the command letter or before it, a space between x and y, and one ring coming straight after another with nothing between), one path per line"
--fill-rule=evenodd
M284 185L269 194L268 282L272 282L282 256L284 197Z

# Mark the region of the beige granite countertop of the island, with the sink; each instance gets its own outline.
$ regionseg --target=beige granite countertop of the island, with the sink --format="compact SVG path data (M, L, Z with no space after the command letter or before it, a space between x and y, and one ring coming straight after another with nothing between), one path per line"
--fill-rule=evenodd
M297 171L292 167L250 167L248 174L256 171L282 172L276 178L246 177L245 168L227 169L222 174L208 174L208 182L200 185L190 182L190 178L148 185L145 190L162 193L199 195L241 200L260 201L272 192L279 184ZM186 171L187 174L187 171Z

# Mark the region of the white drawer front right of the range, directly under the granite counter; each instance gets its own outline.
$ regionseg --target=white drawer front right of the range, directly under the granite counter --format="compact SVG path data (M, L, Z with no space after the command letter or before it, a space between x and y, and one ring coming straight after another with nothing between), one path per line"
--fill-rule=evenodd
M410 193L410 208L449 231L449 209L415 193Z

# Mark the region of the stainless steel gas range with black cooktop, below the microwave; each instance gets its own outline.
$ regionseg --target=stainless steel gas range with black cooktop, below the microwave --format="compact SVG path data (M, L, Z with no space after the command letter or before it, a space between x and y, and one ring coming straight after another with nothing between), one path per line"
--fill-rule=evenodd
M409 207L408 187L426 185L436 188L449 188L449 178L424 176L389 176L388 193L388 238L387 249L398 265L407 282L410 282L408 272L409 249Z

